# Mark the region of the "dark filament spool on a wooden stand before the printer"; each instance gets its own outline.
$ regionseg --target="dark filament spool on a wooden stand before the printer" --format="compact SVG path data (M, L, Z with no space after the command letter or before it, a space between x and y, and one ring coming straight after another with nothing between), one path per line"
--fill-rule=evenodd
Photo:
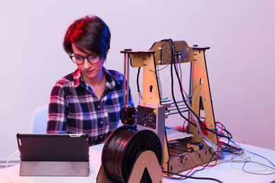
M151 130L137 131L135 127L124 125L112 132L102 149L102 167L112 182L127 182L138 156L151 150L162 163L162 144L157 134ZM150 182L148 171L144 171L141 182Z

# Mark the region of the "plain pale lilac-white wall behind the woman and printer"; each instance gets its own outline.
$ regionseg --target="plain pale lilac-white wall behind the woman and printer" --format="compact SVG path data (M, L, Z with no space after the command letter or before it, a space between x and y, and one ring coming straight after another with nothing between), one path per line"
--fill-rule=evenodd
M214 114L234 139L275 149L275 1L0 1L0 159L17 149L34 108L76 66L63 51L67 27L100 16L111 29L105 66L123 71L120 50L149 49L164 38L206 51ZM169 69L165 72L169 73ZM137 104L136 70L131 88ZM170 80L162 82L170 90ZM180 117L174 117L181 123Z

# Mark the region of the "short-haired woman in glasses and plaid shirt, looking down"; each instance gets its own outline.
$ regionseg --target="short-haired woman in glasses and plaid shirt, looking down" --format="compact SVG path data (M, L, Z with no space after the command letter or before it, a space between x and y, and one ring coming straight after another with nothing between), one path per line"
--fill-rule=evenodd
M52 88L47 133L88 134L89 145L96 145L118 126L123 75L103 66L110 39L109 27L98 16L85 16L69 26L63 47L78 69Z

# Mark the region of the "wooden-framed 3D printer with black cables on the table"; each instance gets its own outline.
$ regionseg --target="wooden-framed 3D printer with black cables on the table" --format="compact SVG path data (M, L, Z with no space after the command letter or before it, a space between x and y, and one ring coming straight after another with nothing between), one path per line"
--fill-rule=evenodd
M205 51L209 48L197 45L189 47L184 40L168 39L155 42L148 51L132 51L131 49L121 51L124 54L125 88L121 121L124 124L136 125L137 130L151 130L157 134L162 146L162 160L159 164L161 164L162 172L167 174L179 173L191 169L196 164L204 164L217 158L216 152L219 151L219 147L217 147L217 132L213 130L216 129L216 125L205 58ZM182 100L176 101L173 90L173 69L175 77L179 81L179 73L177 73L177 64L179 63L190 63L190 82L189 94L183 90L181 82L179 82ZM143 69L142 105L137 106L137 119L135 119L135 108L128 105L129 82L126 81L129 81L130 64L138 68L137 90L139 95L141 95L141 91L138 75L140 69ZM157 65L169 64L173 101L162 99L159 92ZM171 108L177 111L172 112ZM187 131L188 134L192 134L192 138L167 140L165 119L169 114L175 113L180 114L188 121ZM202 121L201 118L204 120ZM157 158L159 159L159 157ZM133 172L131 173L133 174ZM149 174L152 176L150 172ZM124 182L128 182L128 180L124 180Z

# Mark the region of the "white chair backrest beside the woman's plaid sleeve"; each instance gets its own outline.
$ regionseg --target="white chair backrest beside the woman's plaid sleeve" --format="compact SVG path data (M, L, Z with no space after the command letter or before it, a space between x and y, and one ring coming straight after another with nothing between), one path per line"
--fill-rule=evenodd
M40 106L32 112L30 123L30 133L45 134L47 131L47 108L48 106Z

